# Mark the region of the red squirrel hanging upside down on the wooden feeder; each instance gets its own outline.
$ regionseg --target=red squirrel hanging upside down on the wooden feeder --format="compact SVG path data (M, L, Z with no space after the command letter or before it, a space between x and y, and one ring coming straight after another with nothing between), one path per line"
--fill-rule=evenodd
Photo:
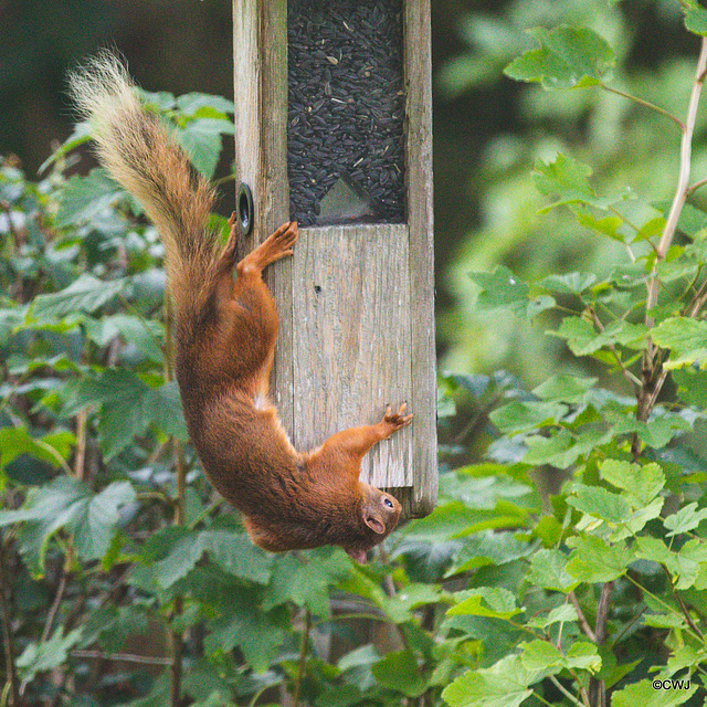
M71 92L93 125L98 159L165 245L177 381L207 477L242 513L255 545L274 552L338 545L365 561L401 507L359 481L360 462L412 414L405 403L388 405L377 424L338 432L310 452L292 445L268 398L278 319L262 273L293 254L297 223L281 225L236 264L236 220L219 250L207 226L213 190L140 104L123 64L101 54L72 75Z

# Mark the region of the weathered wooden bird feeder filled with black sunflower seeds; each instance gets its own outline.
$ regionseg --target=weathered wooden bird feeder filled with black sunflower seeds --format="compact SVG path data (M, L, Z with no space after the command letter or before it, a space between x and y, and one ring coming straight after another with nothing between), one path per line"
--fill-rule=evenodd
M258 240L299 223L294 257L267 273L283 424L312 449L408 401L412 425L373 447L361 479L425 515L437 489L430 0L234 0L233 19L241 221Z

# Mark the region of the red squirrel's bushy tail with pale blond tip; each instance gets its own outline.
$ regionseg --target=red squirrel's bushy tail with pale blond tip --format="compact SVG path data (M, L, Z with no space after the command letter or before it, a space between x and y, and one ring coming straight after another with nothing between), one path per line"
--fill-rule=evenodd
M203 313L212 294L215 236L207 220L213 191L158 116L140 104L114 54L102 52L74 72L70 86L83 117L93 125L102 165L140 202L160 233L168 285L178 318L186 324Z

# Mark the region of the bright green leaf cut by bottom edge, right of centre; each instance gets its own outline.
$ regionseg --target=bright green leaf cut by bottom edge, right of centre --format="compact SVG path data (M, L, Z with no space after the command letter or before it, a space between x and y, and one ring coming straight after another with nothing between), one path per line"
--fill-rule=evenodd
M520 656L509 655L488 668L462 674L442 693L451 707L519 707L542 673L530 673Z

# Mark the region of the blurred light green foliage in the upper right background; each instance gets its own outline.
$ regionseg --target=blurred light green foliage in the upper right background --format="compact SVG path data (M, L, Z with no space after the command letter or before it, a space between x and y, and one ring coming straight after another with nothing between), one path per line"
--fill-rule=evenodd
M652 42L650 28L636 22L648 10L647 22L664 33L662 50L656 48L652 56L643 54L644 45ZM680 30L682 18L679 4L668 0L517 0L500 12L467 15L461 32L469 51L449 62L440 81L451 94L496 85L500 89L507 81L504 66L536 44L527 30L580 24L611 44L618 59L612 86L682 117L697 52L697 40ZM542 336L542 324L523 325L478 312L468 273L490 270L497 263L526 279L568 270L608 271L624 257L622 245L594 239L569 212L538 215L545 200L535 189L532 166L553 159L558 151L570 152L591 163L598 193L631 184L644 201L665 201L672 197L677 176L680 136L659 115L599 87L549 92L523 86L506 95L514 102L517 123L513 131L500 131L484 146L478 172L468 182L479 200L479 224L460 243L444 276L454 293L454 305L439 319L440 337L450 345L441 366L484 372L504 368L534 386L557 370L576 369L578 362L568 360L559 341ZM704 128L700 113L694 143L696 175L707 170ZM703 204L705 197L697 192L695 199ZM597 369L590 365L587 372Z

